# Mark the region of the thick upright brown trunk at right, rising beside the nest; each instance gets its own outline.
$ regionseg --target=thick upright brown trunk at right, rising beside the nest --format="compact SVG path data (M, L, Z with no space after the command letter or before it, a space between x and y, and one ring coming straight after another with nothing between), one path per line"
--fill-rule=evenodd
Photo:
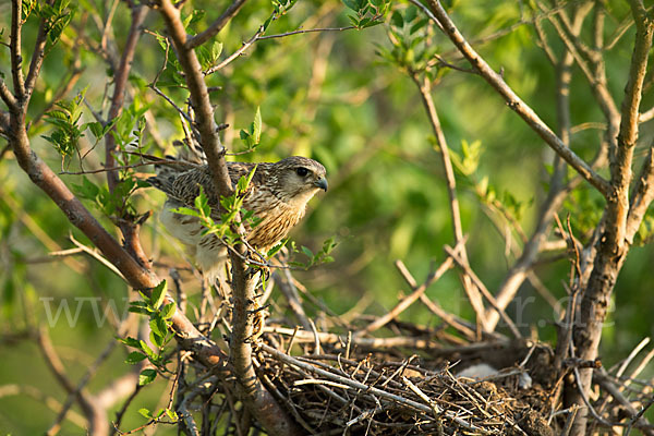
M629 3L635 21L637 32L629 69L629 80L625 89L625 100L621 108L622 119L618 135L618 146L610 157L611 191L607 197L604 231L595 245L596 255L593 270L580 304L580 324L574 329L574 343L578 348L577 354L580 359L589 361L597 356L609 298L629 251L628 242L630 238L627 232L627 222L629 217L629 185L632 177L631 166L633 148L638 138L639 106L642 98L647 55L653 39L654 26L647 19L642 1L630 0ZM645 162L643 170L647 170L647 162ZM640 183L639 186L645 186L649 181L650 175L644 175L644 183L638 182ZM650 190L651 187L644 189L644 192L646 193ZM641 199L646 201L652 195L651 193L645 193L642 194ZM640 204L639 211L643 207L644 204ZM639 211L637 211L637 215L632 215L631 229L640 226L640 221L637 221L637 217L640 215ZM640 218L642 219L642 215ZM578 380L580 385L579 392L571 395L567 399L568 402L583 405L583 397L584 393L590 391L591 382L592 371L590 368L580 370ZM581 436L585 434L586 423L588 410L583 409L574 421L571 435Z

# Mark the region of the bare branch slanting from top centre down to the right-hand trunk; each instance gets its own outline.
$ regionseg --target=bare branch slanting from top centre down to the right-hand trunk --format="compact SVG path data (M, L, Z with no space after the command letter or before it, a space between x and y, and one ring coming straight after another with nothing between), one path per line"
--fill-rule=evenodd
M605 197L610 194L608 182L596 173L583 159L574 154L562 141L545 124L543 120L511 89L500 74L496 73L488 63L470 46L463 35L459 32L455 23L440 5L438 0L428 0L434 19L438 26L443 26L447 36L461 51L461 53L480 72L482 77L497 93L502 96L510 109L516 111L528 125L545 141L559 156L561 156L574 170L580 173L589 183L595 186Z

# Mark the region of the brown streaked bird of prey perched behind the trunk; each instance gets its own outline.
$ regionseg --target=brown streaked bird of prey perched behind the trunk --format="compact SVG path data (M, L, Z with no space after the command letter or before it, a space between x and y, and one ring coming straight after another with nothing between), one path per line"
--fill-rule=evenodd
M278 162L227 162L232 185L235 186L255 165L256 171L245 193L243 207L252 210L261 221L256 227L246 229L246 240L257 251L266 253L302 219L306 203L319 190L327 191L327 179L325 167L319 162L291 156ZM203 234L204 228L198 218L172 211L179 207L194 207L202 186L211 207L211 218L220 221L220 214L225 210L209 168L207 165L158 165L156 168L157 175L149 178L148 182L168 195L159 219L173 237L189 246L205 278L213 282L222 274L228 258L227 247L216 235Z

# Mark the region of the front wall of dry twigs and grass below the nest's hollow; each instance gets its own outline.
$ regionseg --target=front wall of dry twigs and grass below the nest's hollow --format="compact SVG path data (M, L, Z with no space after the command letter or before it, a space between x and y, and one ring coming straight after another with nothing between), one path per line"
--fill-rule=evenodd
M320 354L284 351L262 346L259 374L307 434L554 434L537 408L511 389L457 378L447 364L429 370L416 355L398 360L398 350L373 354L349 343L322 344ZM510 386L518 376L498 380Z

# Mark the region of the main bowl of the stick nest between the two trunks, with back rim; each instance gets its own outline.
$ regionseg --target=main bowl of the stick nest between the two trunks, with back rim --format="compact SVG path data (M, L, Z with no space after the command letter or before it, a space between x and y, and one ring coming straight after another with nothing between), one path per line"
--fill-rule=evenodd
M528 372L538 374L552 356L545 346L476 343L444 352L436 342L415 338L414 344L427 346L416 354L410 343L377 348L375 342L384 339L279 326L267 330L267 343L257 354L258 374L307 434L555 434L548 396L531 377L530 386L524 383ZM293 355L294 347L306 352ZM462 362L469 365L484 354L521 358L522 365L483 379L456 375Z

